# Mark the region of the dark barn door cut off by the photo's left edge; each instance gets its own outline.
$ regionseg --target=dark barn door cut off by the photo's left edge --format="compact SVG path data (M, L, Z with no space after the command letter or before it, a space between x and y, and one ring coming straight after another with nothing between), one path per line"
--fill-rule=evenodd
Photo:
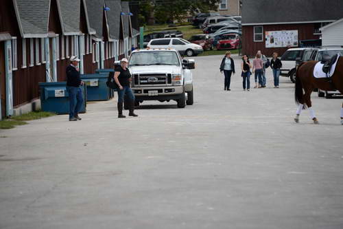
M0 120L6 116L5 42L0 42Z

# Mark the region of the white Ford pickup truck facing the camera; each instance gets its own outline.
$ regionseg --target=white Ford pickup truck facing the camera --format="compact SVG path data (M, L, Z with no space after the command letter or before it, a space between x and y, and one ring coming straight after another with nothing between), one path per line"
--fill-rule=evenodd
M145 100L169 102L175 100L179 108L193 105L193 60L184 60L176 50L134 50L128 69L131 87L138 106ZM186 96L187 95L187 96Z

